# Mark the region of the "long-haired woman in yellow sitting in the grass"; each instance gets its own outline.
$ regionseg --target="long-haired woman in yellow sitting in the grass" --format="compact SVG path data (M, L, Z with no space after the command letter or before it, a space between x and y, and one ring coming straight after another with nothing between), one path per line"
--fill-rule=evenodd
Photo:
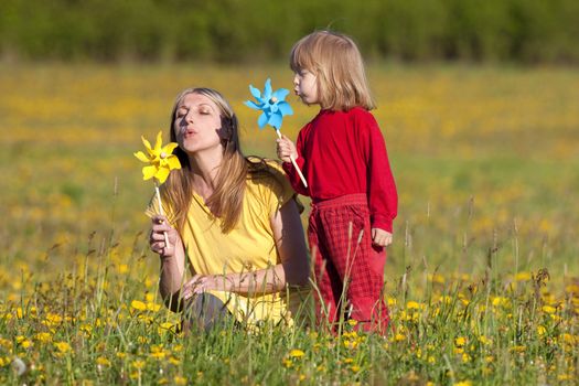
M210 88L179 95L171 140L182 169L162 187L168 215L157 215L154 202L148 208L161 296L205 330L232 317L291 323L293 288L308 283L309 264L296 193L280 168L243 156L237 118Z

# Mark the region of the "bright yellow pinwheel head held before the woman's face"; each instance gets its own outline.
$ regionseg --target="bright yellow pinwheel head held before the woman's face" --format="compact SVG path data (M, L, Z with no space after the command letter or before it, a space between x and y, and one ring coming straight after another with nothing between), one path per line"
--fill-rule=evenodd
M165 182L169 173L173 169L181 169L179 158L173 154L173 150L178 147L175 142L169 142L164 147L162 146L162 131L157 135L157 141L154 148L151 143L141 136L142 143L147 150L147 153L137 151L135 157L139 161L148 163L147 167L142 168L142 179L149 180L154 178L159 183Z

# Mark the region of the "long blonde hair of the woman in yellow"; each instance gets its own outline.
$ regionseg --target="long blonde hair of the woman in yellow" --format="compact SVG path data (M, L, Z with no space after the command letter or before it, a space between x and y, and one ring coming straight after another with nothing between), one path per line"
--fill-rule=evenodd
M218 92L205 87L187 88L179 94L171 112L169 127L172 142L176 142L173 128L176 110L189 94L203 95L215 103L219 109L223 162L217 172L214 192L206 204L215 216L222 218L222 229L227 233L235 227L242 214L246 179L250 167L239 146L239 125L232 107ZM187 154L181 148L176 148L174 154L179 158L182 168L171 172L163 184L162 196L163 201L169 203L171 221L181 233L193 196L193 178Z

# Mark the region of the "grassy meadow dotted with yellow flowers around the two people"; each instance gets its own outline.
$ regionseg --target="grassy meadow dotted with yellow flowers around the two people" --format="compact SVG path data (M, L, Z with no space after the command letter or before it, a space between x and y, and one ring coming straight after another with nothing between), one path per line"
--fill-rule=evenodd
M577 382L579 72L368 74L400 195L386 266L395 330L183 339L158 300L152 185L132 152L167 133L182 88L210 86L236 109L245 152L274 157L275 133L243 101L268 76L291 88L289 69L1 65L0 383ZM294 138L317 110L290 103Z

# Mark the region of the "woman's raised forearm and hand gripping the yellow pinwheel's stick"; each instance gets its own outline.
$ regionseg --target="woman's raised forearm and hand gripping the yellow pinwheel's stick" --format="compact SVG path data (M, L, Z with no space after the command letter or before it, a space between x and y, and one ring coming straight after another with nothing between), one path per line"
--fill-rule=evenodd
M185 249L175 228L169 225L165 216L151 218L151 250L161 259L159 291L172 311L180 310L180 291L184 283ZM165 233L169 245L165 244Z

